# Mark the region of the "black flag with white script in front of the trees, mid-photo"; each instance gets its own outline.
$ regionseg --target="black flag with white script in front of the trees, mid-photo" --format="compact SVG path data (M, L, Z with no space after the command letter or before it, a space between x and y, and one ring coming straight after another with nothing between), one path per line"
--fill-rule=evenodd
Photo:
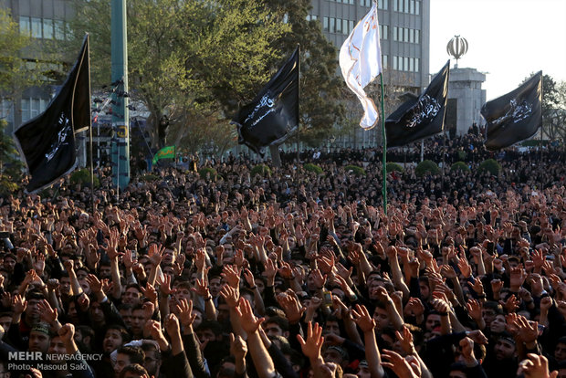
M299 47L285 65L232 121L238 143L263 155L263 148L285 142L299 128Z

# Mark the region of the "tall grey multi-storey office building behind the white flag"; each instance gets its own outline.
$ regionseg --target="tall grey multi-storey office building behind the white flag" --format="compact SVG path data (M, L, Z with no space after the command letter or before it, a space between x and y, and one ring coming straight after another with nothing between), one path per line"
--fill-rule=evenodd
M418 94L429 83L430 0L377 0L377 5L386 96L389 85ZM309 18L320 20L324 35L340 49L371 6L372 0L312 0ZM381 127L358 128L329 143L369 147L381 143L380 135Z

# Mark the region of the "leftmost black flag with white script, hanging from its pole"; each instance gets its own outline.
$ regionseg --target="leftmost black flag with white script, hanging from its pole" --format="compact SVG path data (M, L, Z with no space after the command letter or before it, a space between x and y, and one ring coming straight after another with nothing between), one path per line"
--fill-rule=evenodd
M89 36L68 78L47 109L14 131L16 145L35 192L72 171L77 163L75 132L90 125Z

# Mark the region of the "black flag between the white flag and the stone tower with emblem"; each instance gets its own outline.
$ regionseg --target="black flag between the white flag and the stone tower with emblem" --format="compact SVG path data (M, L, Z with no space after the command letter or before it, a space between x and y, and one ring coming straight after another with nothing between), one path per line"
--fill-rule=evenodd
M419 96L406 100L385 120L387 147L419 141L444 130L450 60Z

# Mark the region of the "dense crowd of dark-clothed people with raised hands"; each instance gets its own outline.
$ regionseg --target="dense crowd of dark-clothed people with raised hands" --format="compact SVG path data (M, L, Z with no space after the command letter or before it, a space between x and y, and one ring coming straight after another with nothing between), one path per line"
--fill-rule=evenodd
M566 377L560 151L425 151L386 212L372 150L0 198L0 377Z

